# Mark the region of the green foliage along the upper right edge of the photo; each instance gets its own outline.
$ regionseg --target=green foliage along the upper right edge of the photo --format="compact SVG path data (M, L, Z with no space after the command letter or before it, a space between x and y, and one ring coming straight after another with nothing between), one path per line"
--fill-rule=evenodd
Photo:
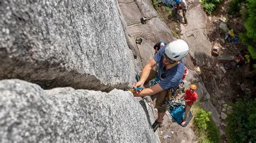
M256 59L256 1L248 0L246 3L247 11L244 11L245 34L239 34L242 44L248 47L248 51L253 59Z

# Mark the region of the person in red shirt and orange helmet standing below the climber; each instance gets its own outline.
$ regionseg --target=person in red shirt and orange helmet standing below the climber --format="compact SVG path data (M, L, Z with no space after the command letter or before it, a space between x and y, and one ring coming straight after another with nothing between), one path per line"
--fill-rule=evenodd
M197 89L197 85L196 84L191 84L190 88L188 88L186 90L185 94L183 96L181 96L181 98L184 98L185 102L186 102L185 117L184 117L184 120L181 123L181 125L185 125L186 124L187 113L190 111L191 106L194 104L194 102L197 101L197 92L195 91L196 89Z

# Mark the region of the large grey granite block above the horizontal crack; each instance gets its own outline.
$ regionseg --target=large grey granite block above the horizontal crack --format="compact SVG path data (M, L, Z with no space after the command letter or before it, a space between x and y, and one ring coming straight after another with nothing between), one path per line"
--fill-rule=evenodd
M0 79L110 91L133 83L117 1L4 1Z

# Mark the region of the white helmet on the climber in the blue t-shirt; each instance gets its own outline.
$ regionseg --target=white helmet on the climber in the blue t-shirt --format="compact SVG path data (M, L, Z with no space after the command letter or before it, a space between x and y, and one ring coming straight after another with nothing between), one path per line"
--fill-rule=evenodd
M168 58L179 61L183 59L188 53L188 45L184 40L177 39L170 42L165 48L165 54Z

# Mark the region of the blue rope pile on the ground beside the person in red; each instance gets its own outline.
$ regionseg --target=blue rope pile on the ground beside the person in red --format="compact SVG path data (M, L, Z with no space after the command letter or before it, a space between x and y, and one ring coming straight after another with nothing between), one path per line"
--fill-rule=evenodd
M184 120L185 116L185 109L183 108L183 105L176 105L173 108L169 109L171 117L180 124Z

